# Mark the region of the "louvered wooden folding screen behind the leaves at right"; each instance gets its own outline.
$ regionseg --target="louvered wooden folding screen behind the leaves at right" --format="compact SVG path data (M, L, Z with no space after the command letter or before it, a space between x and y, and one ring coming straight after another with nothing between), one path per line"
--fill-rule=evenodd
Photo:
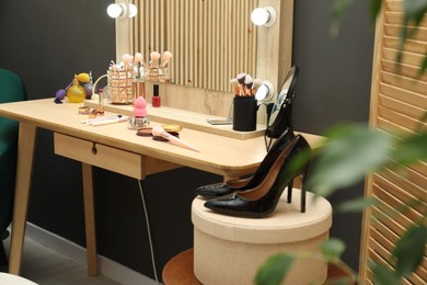
M416 134L419 127L427 128L426 122L420 119L427 112L427 75L418 73L427 53L427 18L403 46L402 61L397 66L402 24L403 0L385 0L376 31L370 124L397 138ZM427 162L369 175L366 195L381 202L363 213L359 272L361 282L370 284L373 281L368 264L376 261L392 269L391 252L395 243L427 210ZM399 209L404 208L401 214ZM426 283L425 252L422 266L403 284Z

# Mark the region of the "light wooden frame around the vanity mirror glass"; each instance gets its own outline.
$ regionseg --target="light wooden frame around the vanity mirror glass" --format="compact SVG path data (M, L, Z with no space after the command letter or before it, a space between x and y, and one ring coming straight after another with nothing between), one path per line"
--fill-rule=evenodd
M123 0L116 0L123 2ZM130 1L131 2L131 1ZM277 19L273 26L259 26L257 34L256 78L272 82L275 90L285 79L291 67L292 30L293 30L293 0L259 0L258 7L273 7ZM250 16L250 15L247 15ZM132 50L134 26L129 19L116 19L116 59ZM199 113L223 116L227 115L232 96L229 92L162 84L160 92L163 103L171 107L178 107ZM147 100L151 102L150 88L147 89ZM170 98L165 98L170 96ZM175 96L175 98L174 98ZM200 99L203 96L203 99ZM182 102L183 98L186 102ZM258 123L266 124L265 111L258 112Z

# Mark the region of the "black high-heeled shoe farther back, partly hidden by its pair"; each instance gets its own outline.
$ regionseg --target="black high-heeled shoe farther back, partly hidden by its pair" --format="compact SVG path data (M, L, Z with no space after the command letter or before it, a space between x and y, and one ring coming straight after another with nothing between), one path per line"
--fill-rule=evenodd
M249 179L232 180L227 183L216 183L196 189L195 193L205 198L216 198L232 194L235 191L246 191L261 184L268 174L269 169L277 160L277 157L284 151L285 147L295 138L292 130L285 129L281 136L273 145L267 156L261 162L254 175Z

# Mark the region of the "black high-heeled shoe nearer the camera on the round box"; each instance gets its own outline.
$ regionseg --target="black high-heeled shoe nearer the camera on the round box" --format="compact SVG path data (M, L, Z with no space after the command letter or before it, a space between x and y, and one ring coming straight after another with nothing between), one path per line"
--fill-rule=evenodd
M218 213L258 218L264 217L276 209L277 203L286 185L290 185L293 179L302 174L301 213L305 212L305 179L309 173L310 160L295 169L295 161L301 156L308 155L311 148L307 140L298 135L278 157L272 171L262 184L253 190L236 192L231 197L211 200L205 203L205 207ZM288 191L288 200L291 189Z

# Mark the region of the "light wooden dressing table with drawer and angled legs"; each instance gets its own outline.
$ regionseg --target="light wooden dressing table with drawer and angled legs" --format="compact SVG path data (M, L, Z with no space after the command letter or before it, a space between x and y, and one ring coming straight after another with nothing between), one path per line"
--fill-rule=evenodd
M136 130L127 128L127 123L96 127L83 125L81 121L86 119L88 116L78 114L78 107L81 105L67 102L55 104L53 99L0 104L0 116L20 122L9 265L9 272L12 274L20 274L21 271L37 128L54 132L55 153L82 163L89 275L97 274L92 166L139 180L177 167L191 167L230 179L253 173L266 155L263 136L242 139L223 134L223 129L231 129L231 126L218 126L219 133L207 133L206 128L210 126L206 123L206 118L211 116L206 114L174 110L176 118L186 117L189 123L193 122L192 124L199 122L197 123L199 126L193 126L193 129L191 124L182 122L184 129L180 134L183 140L201 150L196 152L169 142L154 141L151 137L137 136ZM106 107L105 116L129 115L131 111L131 106L122 106L122 110L114 107ZM173 117L169 117L172 111L168 107L154 111L148 106L149 116L151 113L160 112L153 115L158 122L151 118L150 125L155 126L173 121ZM165 121L162 122L163 118ZM180 122L175 123L180 124ZM242 135L236 134L238 137ZM321 139L319 136L303 135L312 146Z

